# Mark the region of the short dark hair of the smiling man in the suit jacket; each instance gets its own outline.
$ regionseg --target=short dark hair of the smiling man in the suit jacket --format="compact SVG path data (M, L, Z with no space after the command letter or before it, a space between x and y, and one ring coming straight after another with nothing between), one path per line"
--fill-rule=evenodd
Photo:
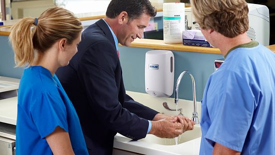
M128 13L129 20L138 18L142 13L151 17L156 15L156 9L149 0L111 0L106 11L106 16L115 18L122 11Z

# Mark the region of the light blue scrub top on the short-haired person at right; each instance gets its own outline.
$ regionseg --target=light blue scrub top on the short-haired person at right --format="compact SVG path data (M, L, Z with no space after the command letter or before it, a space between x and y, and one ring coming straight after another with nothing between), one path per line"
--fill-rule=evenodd
M275 154L275 54L259 44L233 49L208 79L200 154L215 142L242 154Z

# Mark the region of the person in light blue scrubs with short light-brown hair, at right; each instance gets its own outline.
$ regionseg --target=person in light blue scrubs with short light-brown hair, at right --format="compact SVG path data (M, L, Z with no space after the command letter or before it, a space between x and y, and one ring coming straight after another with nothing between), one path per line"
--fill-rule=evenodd
M206 83L200 154L275 154L275 53L246 35L245 0L192 0L225 60Z

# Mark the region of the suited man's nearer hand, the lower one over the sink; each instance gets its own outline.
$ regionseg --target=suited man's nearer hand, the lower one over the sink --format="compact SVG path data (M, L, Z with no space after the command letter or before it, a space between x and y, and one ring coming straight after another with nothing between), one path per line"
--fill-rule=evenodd
M182 124L179 122L170 122L164 119L151 121L152 126L149 134L154 134L155 136L161 138L173 138L182 134L183 128Z

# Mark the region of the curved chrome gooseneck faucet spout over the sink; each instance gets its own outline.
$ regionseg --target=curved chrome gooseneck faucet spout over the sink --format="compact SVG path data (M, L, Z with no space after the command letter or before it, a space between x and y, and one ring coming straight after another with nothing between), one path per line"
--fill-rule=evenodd
M192 80L192 90L193 90L193 113L192 113L192 120L198 124L199 123L199 119L198 119L198 113L196 112L196 96L195 96L195 80L193 75L191 74L190 71L183 71L180 73L180 75L178 76L177 80L176 80L176 84L175 84L175 94L174 94L174 103L178 104L178 86L180 83L180 80L182 78L182 76L184 74L188 74L191 77Z

